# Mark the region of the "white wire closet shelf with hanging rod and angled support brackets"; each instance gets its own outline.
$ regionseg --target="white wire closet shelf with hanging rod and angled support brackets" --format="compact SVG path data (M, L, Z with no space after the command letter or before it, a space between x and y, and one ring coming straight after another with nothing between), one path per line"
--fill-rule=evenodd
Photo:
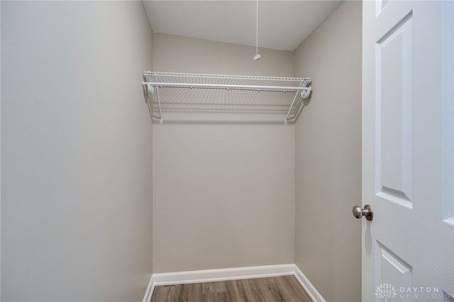
M267 113L297 118L311 94L310 78L144 72L153 119L163 113Z

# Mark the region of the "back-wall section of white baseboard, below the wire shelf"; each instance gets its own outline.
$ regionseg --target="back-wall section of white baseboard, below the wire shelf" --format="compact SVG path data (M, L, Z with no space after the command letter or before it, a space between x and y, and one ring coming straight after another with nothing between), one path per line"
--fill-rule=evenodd
M153 274L155 285L189 284L235 279L265 278L294 274L294 264L264 265L261 267L234 267L201 271Z

